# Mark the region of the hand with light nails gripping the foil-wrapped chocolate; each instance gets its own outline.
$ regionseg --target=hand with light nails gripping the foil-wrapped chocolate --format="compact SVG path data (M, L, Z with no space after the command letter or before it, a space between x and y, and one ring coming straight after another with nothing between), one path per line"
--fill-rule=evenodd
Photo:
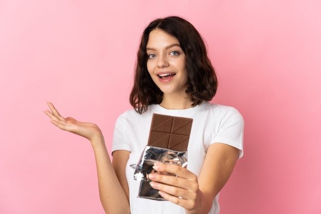
M202 206L202 192L199 190L197 176L184 167L157 162L153 167L160 174L150 174L151 186L159 194L186 210L197 210ZM175 176L162 173L175 174Z

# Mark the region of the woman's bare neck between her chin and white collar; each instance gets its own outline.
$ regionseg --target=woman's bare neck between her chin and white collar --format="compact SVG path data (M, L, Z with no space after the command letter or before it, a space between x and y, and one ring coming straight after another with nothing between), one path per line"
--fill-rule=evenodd
M182 109L189 109L192 107L192 103L190 98L182 96L166 96L163 95L163 101L159 104L165 109L170 110L182 110Z

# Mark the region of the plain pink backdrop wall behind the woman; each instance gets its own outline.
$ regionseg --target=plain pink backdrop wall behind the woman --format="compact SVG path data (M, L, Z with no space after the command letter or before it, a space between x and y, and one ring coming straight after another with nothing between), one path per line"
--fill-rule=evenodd
M187 18L244 116L221 213L321 213L319 1L0 1L0 213L103 213L90 143L43 113L97 123L108 149L150 20Z

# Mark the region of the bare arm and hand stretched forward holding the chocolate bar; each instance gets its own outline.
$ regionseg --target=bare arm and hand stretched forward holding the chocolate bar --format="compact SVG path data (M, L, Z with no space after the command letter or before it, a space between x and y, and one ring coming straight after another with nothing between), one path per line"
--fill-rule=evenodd
M197 176L183 167L158 164L158 172L176 174L177 177L154 174L153 188L160 190L165 199L185 208L187 214L208 213L213 199L232 174L239 150L223 143L213 143L197 180ZM179 198L178 198L179 197Z

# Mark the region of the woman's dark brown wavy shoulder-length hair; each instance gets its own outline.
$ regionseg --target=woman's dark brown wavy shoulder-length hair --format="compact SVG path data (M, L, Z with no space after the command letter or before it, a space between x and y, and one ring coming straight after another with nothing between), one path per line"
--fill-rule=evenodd
M188 75L186 94L190 96L192 106L212 100L218 82L202 36L187 20L169 16L153 20L143 32L137 52L134 85L129 98L135 111L142 114L147 111L149 104L159 104L163 100L163 92L156 86L147 70L146 45L149 33L154 29L174 36L185 53Z

